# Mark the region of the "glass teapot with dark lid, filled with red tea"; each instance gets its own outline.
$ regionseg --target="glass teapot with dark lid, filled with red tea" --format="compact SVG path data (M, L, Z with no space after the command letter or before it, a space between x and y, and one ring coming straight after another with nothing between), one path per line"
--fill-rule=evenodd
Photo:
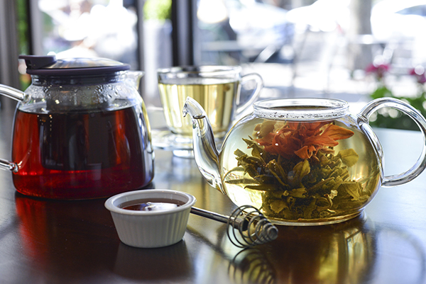
M137 91L143 72L104 58L21 55L31 86L0 85L16 99L11 161L16 190L57 199L100 198L153 178L148 116Z

